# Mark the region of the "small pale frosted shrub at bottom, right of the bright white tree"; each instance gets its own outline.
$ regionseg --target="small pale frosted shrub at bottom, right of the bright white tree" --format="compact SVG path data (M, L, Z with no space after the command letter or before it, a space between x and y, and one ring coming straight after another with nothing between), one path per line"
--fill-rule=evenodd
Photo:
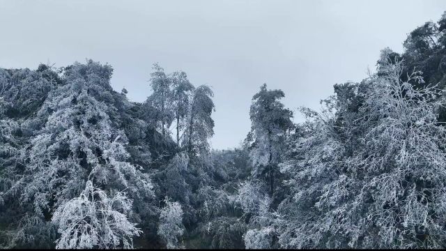
M170 201L167 197L164 199L164 204L160 214L158 235L166 243L167 248L183 248L179 240L184 233L183 209L178 202Z

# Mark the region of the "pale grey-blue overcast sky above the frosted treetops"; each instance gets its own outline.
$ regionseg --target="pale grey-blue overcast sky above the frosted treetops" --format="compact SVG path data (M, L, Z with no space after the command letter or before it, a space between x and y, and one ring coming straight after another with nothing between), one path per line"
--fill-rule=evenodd
M214 149L249 132L261 84L286 107L319 109L333 84L358 82L379 52L402 52L407 34L440 19L444 0L0 0L0 68L68 66L93 59L114 68L111 84L142 102L155 62L215 92Z

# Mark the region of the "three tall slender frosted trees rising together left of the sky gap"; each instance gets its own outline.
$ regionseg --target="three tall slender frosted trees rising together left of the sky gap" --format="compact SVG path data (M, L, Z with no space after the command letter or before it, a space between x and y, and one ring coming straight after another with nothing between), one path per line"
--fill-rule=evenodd
M206 155L209 152L208 138L214 134L214 121L210 117L214 109L213 91L209 86L195 88L184 72L166 75L157 63L151 73L153 94L146 105L153 107L148 119L166 137L175 123L176 144L187 153Z

